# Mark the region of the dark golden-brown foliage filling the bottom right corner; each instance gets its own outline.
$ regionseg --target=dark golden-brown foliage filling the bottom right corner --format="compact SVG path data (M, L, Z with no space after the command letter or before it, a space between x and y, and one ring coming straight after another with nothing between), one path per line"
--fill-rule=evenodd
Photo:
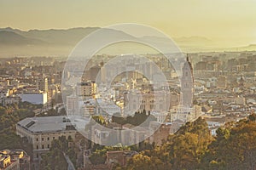
M230 129L220 128L210 144L205 167L212 169L256 168L256 122L254 115L237 122Z

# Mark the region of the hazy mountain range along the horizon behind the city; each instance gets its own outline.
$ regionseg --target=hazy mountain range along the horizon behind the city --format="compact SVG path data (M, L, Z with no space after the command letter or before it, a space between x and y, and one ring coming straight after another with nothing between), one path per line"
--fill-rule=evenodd
M67 30L30 30L20 31L10 27L0 28L0 57L16 55L63 55L67 56L75 45L91 32L100 29L99 27L78 27ZM123 31L110 30L109 35L131 37ZM141 38L146 42L158 42L166 44L164 37L134 37ZM206 52L206 51L245 51L255 50L256 44L249 44L246 47L224 47L218 42L207 37L174 37L174 42L184 52ZM112 49L113 50L113 49ZM113 52L114 54L114 52Z

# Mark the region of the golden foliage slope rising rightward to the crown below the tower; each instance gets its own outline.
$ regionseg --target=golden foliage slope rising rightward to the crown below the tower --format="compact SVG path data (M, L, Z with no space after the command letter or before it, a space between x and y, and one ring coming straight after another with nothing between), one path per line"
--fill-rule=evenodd
M207 122L199 118L170 135L166 144L133 156L126 169L198 169L211 142Z

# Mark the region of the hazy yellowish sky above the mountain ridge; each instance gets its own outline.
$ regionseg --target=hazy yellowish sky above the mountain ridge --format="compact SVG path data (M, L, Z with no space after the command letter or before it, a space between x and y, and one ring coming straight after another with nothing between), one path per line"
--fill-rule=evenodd
M0 27L29 30L121 22L154 26L171 37L229 37L256 43L256 0L0 1Z

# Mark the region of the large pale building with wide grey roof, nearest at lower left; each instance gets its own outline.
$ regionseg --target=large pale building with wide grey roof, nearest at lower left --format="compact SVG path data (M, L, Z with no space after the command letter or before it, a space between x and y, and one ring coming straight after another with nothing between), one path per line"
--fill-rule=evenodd
M32 144L33 161L40 161L40 154L49 150L54 139L61 136L74 139L76 127L84 128L86 123L75 116L29 117L17 123L16 133Z

